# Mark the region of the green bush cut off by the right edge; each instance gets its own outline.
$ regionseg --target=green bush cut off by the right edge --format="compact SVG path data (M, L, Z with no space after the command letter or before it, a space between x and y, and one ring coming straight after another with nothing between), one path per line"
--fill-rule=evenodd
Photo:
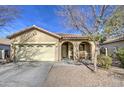
M124 67L124 48L118 49L116 55L118 60L121 62L122 67Z

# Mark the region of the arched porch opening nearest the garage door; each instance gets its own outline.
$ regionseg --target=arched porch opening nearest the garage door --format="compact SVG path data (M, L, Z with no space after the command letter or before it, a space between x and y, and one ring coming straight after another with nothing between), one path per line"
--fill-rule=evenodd
M71 42L64 42L61 45L61 58L73 59L73 44Z

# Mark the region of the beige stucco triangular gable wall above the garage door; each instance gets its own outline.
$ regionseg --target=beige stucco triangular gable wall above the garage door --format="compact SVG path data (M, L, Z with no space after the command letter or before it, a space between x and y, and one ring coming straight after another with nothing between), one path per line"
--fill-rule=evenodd
M18 43L58 42L57 38L50 36L46 33L40 32L38 30L28 31L24 34L21 34L15 38L11 39L11 40L14 42L18 42Z

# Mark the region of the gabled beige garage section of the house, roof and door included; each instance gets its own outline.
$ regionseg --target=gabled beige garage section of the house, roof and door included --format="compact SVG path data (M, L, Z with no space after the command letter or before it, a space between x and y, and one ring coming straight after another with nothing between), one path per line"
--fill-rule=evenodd
M16 47L12 51L19 61L58 61L61 36L37 26L26 28L9 37ZM12 54L13 55L13 54Z

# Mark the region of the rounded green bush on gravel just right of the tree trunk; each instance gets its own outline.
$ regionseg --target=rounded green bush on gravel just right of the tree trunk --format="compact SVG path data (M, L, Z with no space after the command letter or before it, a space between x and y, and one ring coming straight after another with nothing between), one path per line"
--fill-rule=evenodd
M112 58L105 55L98 55L97 57L98 65L102 68L109 69L112 65Z

